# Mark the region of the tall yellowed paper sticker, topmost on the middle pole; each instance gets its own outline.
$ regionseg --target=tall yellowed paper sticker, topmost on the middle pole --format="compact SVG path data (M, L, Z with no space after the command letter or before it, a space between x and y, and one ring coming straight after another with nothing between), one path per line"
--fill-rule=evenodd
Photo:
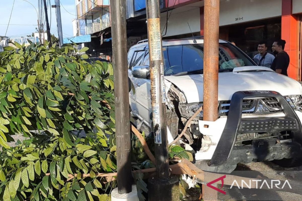
M160 19L151 18L148 19L149 28L149 55L151 61L162 60L162 44L161 44L161 31L160 31Z

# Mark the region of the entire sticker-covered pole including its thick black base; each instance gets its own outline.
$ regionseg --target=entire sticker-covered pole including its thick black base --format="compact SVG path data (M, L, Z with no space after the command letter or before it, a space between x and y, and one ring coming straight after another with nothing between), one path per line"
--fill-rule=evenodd
M164 64L158 0L146 0L151 102L157 178L149 180L149 200L179 200L178 179L169 173ZM174 193L173 193L174 192Z

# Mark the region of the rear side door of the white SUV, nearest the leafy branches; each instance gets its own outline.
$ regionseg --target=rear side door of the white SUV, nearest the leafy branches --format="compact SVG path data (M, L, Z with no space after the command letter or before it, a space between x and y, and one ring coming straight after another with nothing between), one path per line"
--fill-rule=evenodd
M133 48L129 50L128 53L128 77L130 78L135 91L131 90L129 93L129 102L130 102L130 108L131 111L138 115L138 109L137 109L137 87L139 86L139 83L137 83L136 77L133 77L132 75L132 68L133 66L140 64L143 54L144 54L144 47L140 46L138 48Z

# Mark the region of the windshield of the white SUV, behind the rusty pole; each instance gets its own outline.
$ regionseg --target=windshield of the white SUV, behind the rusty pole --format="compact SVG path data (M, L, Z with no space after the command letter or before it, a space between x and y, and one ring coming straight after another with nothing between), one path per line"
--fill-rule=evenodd
M164 46L163 55L165 75L175 75L190 71L202 73L204 68L203 44ZM236 67L253 65L255 64L235 46L229 43L219 44L220 72L224 70L232 71Z

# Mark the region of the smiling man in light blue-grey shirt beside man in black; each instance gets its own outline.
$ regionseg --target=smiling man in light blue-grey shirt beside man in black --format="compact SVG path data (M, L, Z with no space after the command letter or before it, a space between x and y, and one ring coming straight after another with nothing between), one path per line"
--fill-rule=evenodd
M259 42L258 52L259 54L254 56L254 61L257 65L271 68L271 64L273 63L275 56L267 52L266 42Z

